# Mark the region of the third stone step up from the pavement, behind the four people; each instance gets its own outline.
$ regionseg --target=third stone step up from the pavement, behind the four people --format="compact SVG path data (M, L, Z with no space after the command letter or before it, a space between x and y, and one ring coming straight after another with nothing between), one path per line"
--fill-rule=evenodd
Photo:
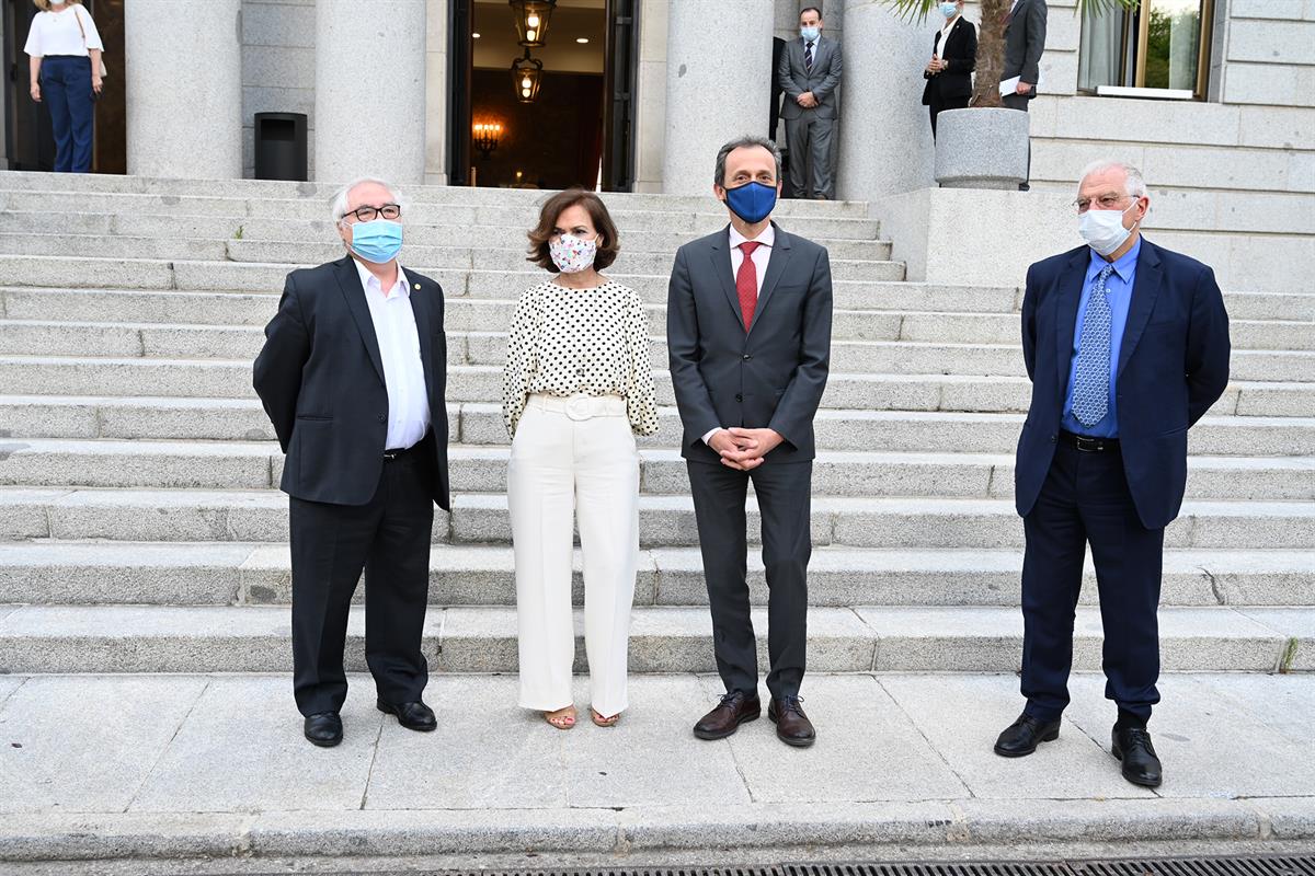
M760 531L746 502L748 536ZM813 542L853 548L1002 549L1023 544L1005 499L836 498L811 506ZM435 512L434 541L508 544L505 494L455 494ZM642 495L644 546L697 544L689 496ZM0 491L0 540L287 541L288 500L275 490L97 490L11 487ZM1169 548L1315 549L1315 503L1190 500L1165 533Z

